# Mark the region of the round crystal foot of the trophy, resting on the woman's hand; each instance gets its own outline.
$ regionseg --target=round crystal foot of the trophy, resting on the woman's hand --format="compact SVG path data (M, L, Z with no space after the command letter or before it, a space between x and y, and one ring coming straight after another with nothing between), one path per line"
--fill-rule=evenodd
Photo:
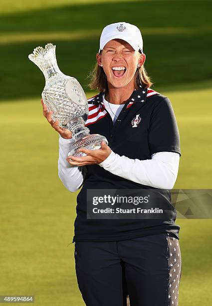
M80 152L79 148L86 148L89 150L97 150L101 147L101 142L105 141L108 144L107 139L99 134L91 134L76 140L73 145L71 145L68 152L68 156L72 155L75 157L86 156L87 154Z

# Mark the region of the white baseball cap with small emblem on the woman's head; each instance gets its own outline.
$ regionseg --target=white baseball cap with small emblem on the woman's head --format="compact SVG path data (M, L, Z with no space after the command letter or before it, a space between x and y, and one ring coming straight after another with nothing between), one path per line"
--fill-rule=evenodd
M116 22L103 28L100 36L99 52L108 41L116 38L127 41L134 50L140 50L143 53L143 39L140 29L136 25L127 22Z

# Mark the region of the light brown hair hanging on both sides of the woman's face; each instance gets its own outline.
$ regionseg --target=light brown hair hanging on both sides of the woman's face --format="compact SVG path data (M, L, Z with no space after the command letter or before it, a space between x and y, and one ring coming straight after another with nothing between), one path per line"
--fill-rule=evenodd
M100 51L100 53L101 52L102 50ZM100 92L108 91L107 76L103 68L100 67L97 62L93 70L91 70L90 74L88 75L88 78L90 78L90 82L88 84L90 89L93 90L98 89ZM144 65L142 65L140 68L137 68L135 72L134 82L136 89L139 89L140 85L142 85L143 88L147 88L153 84L150 77L147 74L147 71L145 70Z

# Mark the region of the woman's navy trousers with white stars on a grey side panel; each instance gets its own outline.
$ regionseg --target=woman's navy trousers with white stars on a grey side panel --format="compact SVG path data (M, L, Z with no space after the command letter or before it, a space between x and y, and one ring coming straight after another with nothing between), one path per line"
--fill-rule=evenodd
M87 306L177 306L179 240L168 233L112 242L75 242L75 268Z

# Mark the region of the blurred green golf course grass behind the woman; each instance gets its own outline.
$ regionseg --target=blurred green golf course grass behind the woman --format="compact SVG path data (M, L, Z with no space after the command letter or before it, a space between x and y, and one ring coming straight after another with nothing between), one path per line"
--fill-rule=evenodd
M212 1L0 0L0 295L84 305L74 266L76 193L57 174L58 135L42 116L44 76L27 55L56 44L58 65L87 97L102 28L140 27L153 89L173 104L182 156L175 188L212 187ZM181 225L179 305L212 300L210 219Z

